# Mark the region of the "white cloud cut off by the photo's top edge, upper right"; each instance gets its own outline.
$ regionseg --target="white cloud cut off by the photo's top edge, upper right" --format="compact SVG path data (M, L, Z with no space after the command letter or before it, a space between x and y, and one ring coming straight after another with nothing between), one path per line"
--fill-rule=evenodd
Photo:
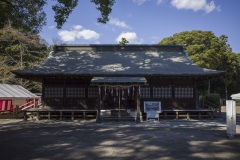
M213 10L220 10L214 1L207 3L207 0L171 0L171 5L177 9L190 9L195 12L204 10L206 13L210 13Z

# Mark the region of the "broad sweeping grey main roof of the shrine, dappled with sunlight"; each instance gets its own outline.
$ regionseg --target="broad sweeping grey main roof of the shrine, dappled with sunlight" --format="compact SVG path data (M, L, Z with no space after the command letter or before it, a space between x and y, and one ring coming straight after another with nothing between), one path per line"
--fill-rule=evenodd
M195 65L179 45L61 45L45 63L19 76L210 76L223 71Z

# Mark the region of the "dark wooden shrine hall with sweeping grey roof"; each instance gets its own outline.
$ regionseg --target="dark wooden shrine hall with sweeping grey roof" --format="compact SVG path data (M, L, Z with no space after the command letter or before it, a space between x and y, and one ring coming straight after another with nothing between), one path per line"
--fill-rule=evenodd
M154 102L165 116L201 110L198 84L224 74L194 64L181 45L59 45L41 66L13 73L42 82L42 111L137 122Z

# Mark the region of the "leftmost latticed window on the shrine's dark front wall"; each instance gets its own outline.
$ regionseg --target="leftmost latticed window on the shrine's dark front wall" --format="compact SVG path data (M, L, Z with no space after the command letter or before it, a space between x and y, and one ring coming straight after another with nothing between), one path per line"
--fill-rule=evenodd
M63 98L63 87L45 87L46 98Z

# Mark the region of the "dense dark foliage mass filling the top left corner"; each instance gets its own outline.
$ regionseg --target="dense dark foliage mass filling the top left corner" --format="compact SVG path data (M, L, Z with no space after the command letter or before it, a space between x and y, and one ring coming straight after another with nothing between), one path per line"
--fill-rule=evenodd
M0 28L11 24L14 28L39 33L46 24L43 6L46 0L1 0Z

